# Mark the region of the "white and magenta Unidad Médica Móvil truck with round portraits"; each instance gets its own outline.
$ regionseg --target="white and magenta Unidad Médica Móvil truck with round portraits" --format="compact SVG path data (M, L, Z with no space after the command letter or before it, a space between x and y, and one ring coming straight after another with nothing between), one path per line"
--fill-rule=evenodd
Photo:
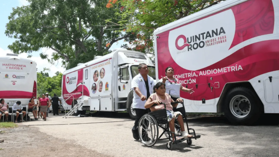
M62 79L63 107L71 109L74 115L85 114L87 110L127 110L134 119L131 82L139 74L140 63L147 64L149 75L155 79L155 66L146 54L122 48L66 70Z

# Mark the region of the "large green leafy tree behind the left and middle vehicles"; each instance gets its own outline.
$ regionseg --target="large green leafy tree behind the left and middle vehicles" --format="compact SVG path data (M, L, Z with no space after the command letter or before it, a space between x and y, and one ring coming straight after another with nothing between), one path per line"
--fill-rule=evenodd
M63 60L66 68L108 53L111 45L129 36L111 18L117 10L106 8L107 0L27 0L30 5L13 8L6 24L6 36L16 41L8 48L16 54L48 48L53 63ZM107 23L106 19L111 22Z

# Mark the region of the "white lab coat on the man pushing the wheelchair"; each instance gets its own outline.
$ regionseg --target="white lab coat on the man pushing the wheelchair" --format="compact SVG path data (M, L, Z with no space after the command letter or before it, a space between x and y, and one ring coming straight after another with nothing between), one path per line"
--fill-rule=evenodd
M147 79L148 79L149 93L151 95L153 93L153 87L155 86L156 81L148 75L147 75ZM135 92L135 89L134 89L135 87L138 87L141 94L143 94L145 97L147 97L147 90L145 87L145 82L144 82L142 75L140 75L140 74L136 75L132 80L132 90L134 90L133 108L134 109L145 109L144 104L145 104L146 100L144 100L144 101L140 100L140 97Z

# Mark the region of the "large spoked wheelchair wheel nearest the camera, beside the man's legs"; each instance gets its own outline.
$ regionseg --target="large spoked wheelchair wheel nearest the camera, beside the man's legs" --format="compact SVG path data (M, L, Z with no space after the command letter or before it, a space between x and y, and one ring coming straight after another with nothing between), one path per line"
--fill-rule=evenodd
M153 116L145 114L139 119L138 124L139 139L141 142L152 147L158 139L158 124Z

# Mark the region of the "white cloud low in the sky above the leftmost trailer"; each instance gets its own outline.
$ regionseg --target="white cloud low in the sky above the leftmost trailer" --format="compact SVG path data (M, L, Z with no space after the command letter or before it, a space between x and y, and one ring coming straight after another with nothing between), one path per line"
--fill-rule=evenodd
M49 50L49 49L47 50L46 48L43 48L42 52L47 54L48 57L51 57L53 51ZM1 56L6 56L7 53L13 53L13 52L11 52L9 49L3 50L2 48L0 48L0 57ZM40 53L40 52L36 52L36 53ZM26 53L22 53L18 56L27 58L28 55ZM61 65L62 65L61 64L62 63L61 59L59 59L58 63L56 62L55 65L52 65L52 64L48 63L48 60L46 60L46 59L41 59L40 56L38 56L38 57L32 56L30 59L34 60L37 63L37 69L38 69L37 72L43 71L44 68L49 68L50 71L45 71L45 72L48 72L50 77L55 76L56 71L59 71L59 72L63 73L66 70L63 67L61 67Z

